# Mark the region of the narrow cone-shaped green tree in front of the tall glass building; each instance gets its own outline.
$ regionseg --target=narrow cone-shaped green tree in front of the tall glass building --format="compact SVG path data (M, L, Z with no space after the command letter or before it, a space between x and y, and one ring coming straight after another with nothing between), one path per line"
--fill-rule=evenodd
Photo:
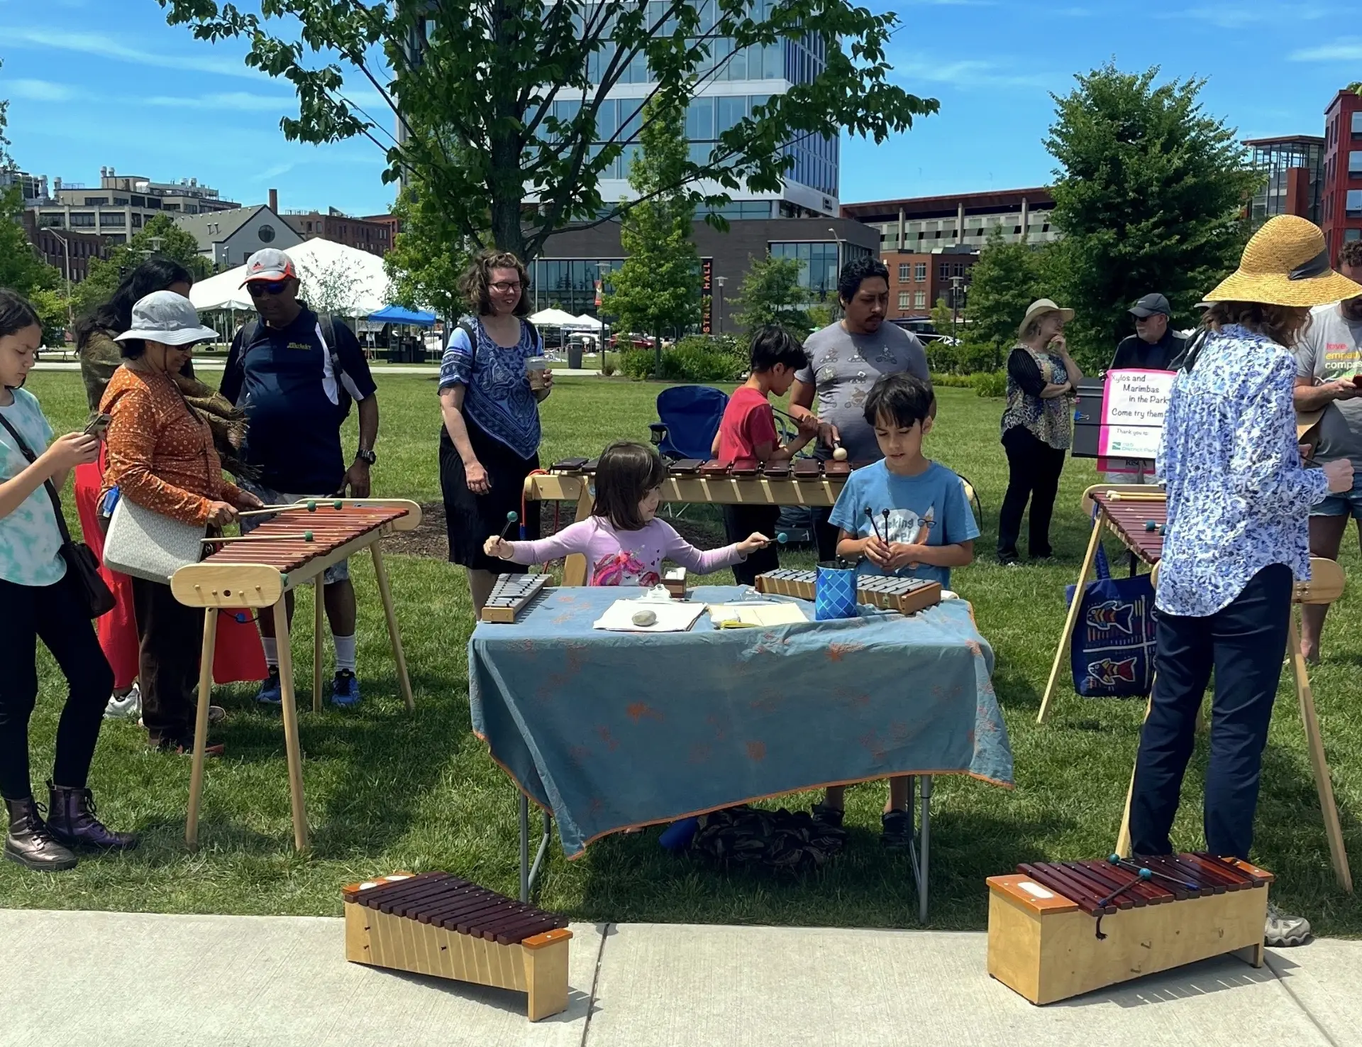
M700 322L700 256L691 239L695 202L670 188L686 164L685 108L654 97L643 116L643 150L629 169L640 202L620 226L625 259L610 274L601 309L624 330L682 331Z

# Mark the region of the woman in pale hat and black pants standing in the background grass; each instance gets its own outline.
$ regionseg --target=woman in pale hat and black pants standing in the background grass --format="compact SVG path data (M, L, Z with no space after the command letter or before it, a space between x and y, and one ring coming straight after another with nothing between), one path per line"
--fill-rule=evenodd
M1008 492L998 513L998 563L1017 562L1022 514L1031 502L1027 551L1050 556L1050 517L1060 491L1064 455L1073 440L1073 397L1083 372L1064 342L1073 309L1049 299L1032 301L1008 356L1008 406L1002 412L1002 449L1008 454Z

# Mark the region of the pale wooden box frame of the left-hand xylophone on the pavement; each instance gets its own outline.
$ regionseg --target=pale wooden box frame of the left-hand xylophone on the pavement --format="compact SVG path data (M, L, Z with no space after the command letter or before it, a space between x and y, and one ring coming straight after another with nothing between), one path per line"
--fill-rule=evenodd
M366 883L383 886L410 875L395 872ZM362 889L364 885L351 883L342 892L345 958L350 962L524 992L530 1021L568 1009L568 942L572 931L565 927L513 945L498 945L362 905L357 900Z

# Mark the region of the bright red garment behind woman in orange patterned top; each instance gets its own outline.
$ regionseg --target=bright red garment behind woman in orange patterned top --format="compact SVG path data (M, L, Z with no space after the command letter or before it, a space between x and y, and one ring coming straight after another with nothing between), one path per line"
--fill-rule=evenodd
M75 479L80 530L86 545L101 560L104 560L104 530L99 528L98 502L105 468L104 455L101 449L98 462L76 466ZM99 646L104 648L104 654L113 668L113 686L123 690L138 679L138 616L132 607L132 579L104 566L99 567L99 574L118 603L113 611L95 619L95 627L99 633ZM264 649L260 646L260 633L252 618L253 613L249 611L218 613L218 641L212 656L215 683L266 678Z

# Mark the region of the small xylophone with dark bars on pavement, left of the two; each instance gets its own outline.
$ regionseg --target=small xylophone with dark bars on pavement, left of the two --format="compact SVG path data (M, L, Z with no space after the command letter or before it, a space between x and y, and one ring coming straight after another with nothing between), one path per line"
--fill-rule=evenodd
M448 872L343 887L345 958L528 994L530 1021L568 1007L567 919Z

